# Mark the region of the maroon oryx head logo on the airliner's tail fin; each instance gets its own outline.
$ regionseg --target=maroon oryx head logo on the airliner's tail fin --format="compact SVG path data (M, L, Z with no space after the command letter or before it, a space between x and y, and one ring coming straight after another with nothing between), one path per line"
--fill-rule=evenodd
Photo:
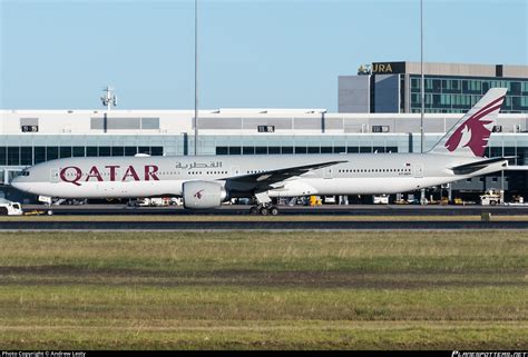
M493 120L487 119L486 116L500 110L503 99L502 96L493 100L466 120L446 141L446 148L449 151L454 151L458 148L468 147L473 155L482 157L493 129Z

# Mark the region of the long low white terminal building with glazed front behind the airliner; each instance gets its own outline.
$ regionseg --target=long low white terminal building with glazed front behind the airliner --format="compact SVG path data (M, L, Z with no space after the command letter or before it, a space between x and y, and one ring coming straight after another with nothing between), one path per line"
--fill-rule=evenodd
M427 113L426 150L460 117ZM193 119L190 110L1 110L0 196L19 195L9 186L12 177L47 160L194 155ZM197 126L198 155L420 152L419 113L219 109L201 110ZM503 175L458 181L453 195L503 187L507 195L528 196L528 113L500 113L495 131L486 155L515 156L510 167Z

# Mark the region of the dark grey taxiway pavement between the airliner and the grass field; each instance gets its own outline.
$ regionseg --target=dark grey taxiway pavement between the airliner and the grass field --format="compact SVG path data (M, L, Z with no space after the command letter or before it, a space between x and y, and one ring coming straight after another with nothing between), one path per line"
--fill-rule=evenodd
M25 211L48 209L45 206L25 206ZM127 207L124 205L52 206L52 220L39 218L0 220L0 230L119 230L119 231L177 231L177 230L439 230L439 229L527 229L528 221L508 220L509 216L528 215L528 206L281 206L281 219L263 219L250 216L250 206L223 206L207 210L186 210L183 207ZM480 221L475 216L490 212L500 220ZM140 216L159 216L140 219ZM68 216L68 217L67 217ZM76 219L76 216L79 216ZM82 217L80 217L82 216ZM87 216L99 216L97 221ZM100 218L100 217L107 218ZM130 216L137 219L113 220L111 216ZM172 216L189 216L186 219L170 219ZM202 216L190 219L190 216ZM215 217L216 216L216 217ZM219 218L217 216L226 216ZM252 217L238 219L239 216ZM310 216L306 219L299 218ZM321 217L317 217L321 216ZM351 219L329 219L330 216L351 216ZM352 217L354 216L354 217ZM385 216L380 221L361 219L362 216ZM420 216L419 219L402 219L402 216ZM437 216L437 217L434 217ZM442 217L438 217L442 216ZM449 217L457 217L450 220ZM469 217L473 216L473 217ZM60 217L63 217L61 219ZM166 217L166 218L164 218ZM207 219L211 217L211 219ZM287 219L292 217L292 219ZM295 218L294 218L295 217ZM387 219L387 217L394 217ZM431 217L431 218L428 218ZM434 218L432 218L434 217ZM468 217L468 219L460 219ZM506 217L506 219L505 219ZM285 219L286 218L286 219ZM353 219L352 219L353 218Z

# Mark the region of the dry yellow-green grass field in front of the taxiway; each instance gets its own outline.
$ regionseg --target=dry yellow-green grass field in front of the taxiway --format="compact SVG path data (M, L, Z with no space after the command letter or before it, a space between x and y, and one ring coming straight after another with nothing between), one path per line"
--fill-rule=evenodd
M3 232L0 349L528 348L528 232Z

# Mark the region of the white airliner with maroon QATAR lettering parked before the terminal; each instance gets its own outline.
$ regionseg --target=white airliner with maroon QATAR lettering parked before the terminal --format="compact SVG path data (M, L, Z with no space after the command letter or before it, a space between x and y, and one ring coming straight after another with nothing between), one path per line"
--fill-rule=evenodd
M193 209L247 197L261 215L277 215L278 197L412 191L507 167L483 158L506 91L490 89L426 153L68 158L30 167L12 186L49 198L179 196Z

